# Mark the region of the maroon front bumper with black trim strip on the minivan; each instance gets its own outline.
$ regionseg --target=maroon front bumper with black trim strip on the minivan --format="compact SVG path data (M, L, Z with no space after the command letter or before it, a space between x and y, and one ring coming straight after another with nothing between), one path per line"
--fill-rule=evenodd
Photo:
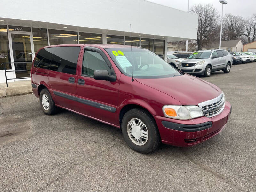
M191 120L154 116L162 143L178 147L191 147L219 134L228 122L231 104L226 101L224 110L217 116Z

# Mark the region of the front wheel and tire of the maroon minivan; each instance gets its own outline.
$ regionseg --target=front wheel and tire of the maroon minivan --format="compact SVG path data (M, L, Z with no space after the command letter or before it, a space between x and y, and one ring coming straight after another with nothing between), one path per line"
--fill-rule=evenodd
M160 144L156 123L144 110L131 109L126 112L121 129L126 143L137 152L150 153Z

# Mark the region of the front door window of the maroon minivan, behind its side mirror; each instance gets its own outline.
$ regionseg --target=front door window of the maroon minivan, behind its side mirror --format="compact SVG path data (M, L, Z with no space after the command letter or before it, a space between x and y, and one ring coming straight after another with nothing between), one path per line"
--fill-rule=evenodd
M85 50L82 75L93 76L93 73L96 70L107 70L110 74L110 68L108 67L107 63L100 55L100 53Z

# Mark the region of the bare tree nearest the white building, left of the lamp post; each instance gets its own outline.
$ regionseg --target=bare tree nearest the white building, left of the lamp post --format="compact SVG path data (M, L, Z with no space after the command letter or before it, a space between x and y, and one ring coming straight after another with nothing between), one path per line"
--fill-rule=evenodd
M197 46L202 49L218 38L219 13L212 4L196 4L190 9L190 12L198 15Z

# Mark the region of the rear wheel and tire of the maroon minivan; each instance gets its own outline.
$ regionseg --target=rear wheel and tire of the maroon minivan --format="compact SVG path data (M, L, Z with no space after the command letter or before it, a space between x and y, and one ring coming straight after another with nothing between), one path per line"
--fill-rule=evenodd
M57 107L48 89L42 89L40 92L40 105L46 115L52 115L57 111Z

